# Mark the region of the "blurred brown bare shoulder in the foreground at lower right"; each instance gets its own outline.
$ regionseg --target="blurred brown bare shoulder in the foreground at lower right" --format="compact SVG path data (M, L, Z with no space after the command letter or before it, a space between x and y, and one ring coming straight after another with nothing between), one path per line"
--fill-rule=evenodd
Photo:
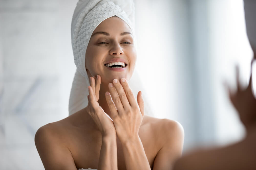
M245 140L227 147L187 154L175 163L174 170L256 169L255 132Z

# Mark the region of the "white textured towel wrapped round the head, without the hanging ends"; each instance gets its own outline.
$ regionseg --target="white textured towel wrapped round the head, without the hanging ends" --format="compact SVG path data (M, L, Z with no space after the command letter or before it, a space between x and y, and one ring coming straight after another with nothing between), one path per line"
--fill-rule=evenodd
M121 9L125 7L126 11ZM105 19L118 16L124 20L133 31L132 21L134 4L132 1L110 1L110 0L80 0L75 8L71 23L71 41L74 61L82 76L88 79L85 68L85 53L94 29ZM127 14L127 13L129 14ZM89 81L89 79L88 79Z

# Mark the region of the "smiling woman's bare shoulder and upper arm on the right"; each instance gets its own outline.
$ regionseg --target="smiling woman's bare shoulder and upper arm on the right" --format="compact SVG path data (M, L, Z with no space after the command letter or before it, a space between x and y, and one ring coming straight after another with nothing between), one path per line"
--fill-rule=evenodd
M154 168L172 169L173 163L182 154L184 130L182 125L174 120L157 119L147 116L146 124L151 124L154 147L157 152L154 157Z

